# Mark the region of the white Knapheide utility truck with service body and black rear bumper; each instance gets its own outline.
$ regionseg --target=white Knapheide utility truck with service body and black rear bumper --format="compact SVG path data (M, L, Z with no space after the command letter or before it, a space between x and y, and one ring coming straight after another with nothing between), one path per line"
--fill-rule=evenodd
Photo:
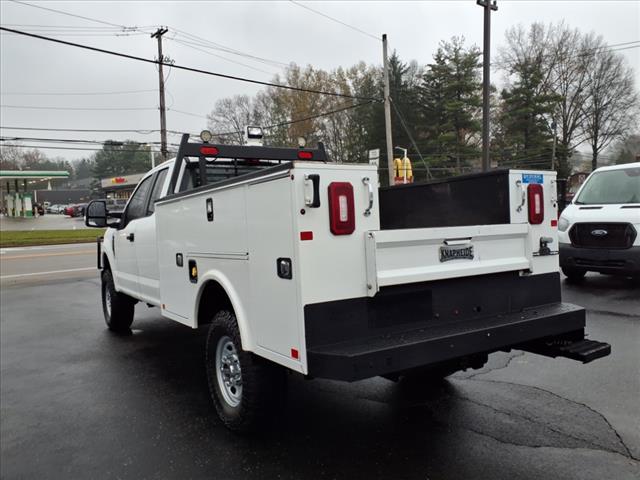
M109 227L108 327L128 330L136 302L208 325L211 396L234 430L271 413L287 371L428 379L512 348L585 363L610 353L561 302L555 172L378 188L375 166L331 163L322 144L184 135L116 215L96 200L85 217Z

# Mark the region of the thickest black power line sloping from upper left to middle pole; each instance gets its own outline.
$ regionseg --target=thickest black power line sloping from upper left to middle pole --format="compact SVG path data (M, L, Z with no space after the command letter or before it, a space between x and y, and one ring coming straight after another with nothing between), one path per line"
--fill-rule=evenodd
M115 52L113 50L105 50L103 48L91 47L89 45L82 45L82 44L79 44L79 43L68 42L66 40L60 40L60 39L57 39L57 38L45 37L45 36L42 36L42 35L23 32L23 31L20 31L20 30L14 30L14 29L11 29L11 28L6 28L6 27L0 27L0 30L4 30L4 31L7 31L7 32L12 32L12 33L15 33L15 34L18 34L18 35L24 35L24 36L27 36L27 37L37 38L37 39L40 39L40 40L46 40L48 42L59 43L61 45L68 45L68 46L72 46L72 47L82 48L82 49L90 50L90 51L93 51L93 52L106 53L108 55L113 55L113 56L122 57L122 58L128 58L130 60L138 60L140 62L145 62L145 63L152 63L154 65L160 65L160 64L167 65L167 66L170 66L172 68L177 68L179 70L185 70L187 72L201 73L201 74L210 75L210 76L213 76L213 77L226 78L226 79L229 79L229 80L236 80L236 81L240 81L240 82L253 83L253 84L256 84L256 85L264 85L264 86L267 86L267 87L282 88L282 89L285 89L285 90L293 90L293 91L297 91L297 92L315 93L315 94L318 94L318 95L329 95L329 96L333 96L333 97L352 98L354 100L379 101L378 99L372 98L372 97L360 97L360 96L355 96L355 95L348 95L348 94L345 94L345 93L326 92L326 91L322 91L322 90L315 90L315 89L309 89L309 88L293 87L293 86L290 86L290 85L281 85L281 84L277 84L277 83L263 82L261 80L254 80L254 79L245 78L245 77L238 77L238 76L235 76L235 75L226 75L226 74L223 74L223 73L212 72L212 71L203 70L203 69L200 69L200 68L193 68L193 67L186 67L186 66L183 66L183 65L170 64L168 62L164 62L164 61L161 61L161 60L150 60L148 58L138 57L136 55L129 55L129 54L126 54L126 53Z

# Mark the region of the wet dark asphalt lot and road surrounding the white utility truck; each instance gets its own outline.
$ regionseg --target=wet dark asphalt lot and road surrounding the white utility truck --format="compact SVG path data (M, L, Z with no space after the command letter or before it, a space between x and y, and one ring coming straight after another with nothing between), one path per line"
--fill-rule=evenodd
M499 353L428 390L291 376L273 429L244 438L209 401L205 331L138 305L116 336L95 270L16 276L91 268L84 250L0 252L2 478L640 478L640 290L625 280L563 284L607 358ZM16 258L32 252L51 255Z

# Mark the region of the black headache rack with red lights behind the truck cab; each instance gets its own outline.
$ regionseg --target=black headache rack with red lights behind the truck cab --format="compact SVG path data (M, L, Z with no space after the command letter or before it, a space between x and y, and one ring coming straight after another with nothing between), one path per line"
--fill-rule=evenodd
M182 135L178 154L176 155L175 166L171 174L169 192L174 192L178 182L178 176L183 162L189 158L198 158L200 178L203 182L201 186L207 184L206 162L207 158L224 158L232 160L231 165L237 166L238 161L277 161L293 162L296 160L327 162L327 154L322 142L318 142L318 148L282 148L264 147L258 145L222 145L207 142L190 143L189 134ZM214 160L215 161L215 160Z

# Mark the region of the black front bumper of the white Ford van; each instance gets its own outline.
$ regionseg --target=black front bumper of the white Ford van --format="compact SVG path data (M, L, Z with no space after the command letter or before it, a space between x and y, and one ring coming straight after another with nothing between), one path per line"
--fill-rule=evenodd
M625 249L577 248L560 244L560 266L620 275L640 274L640 246Z

